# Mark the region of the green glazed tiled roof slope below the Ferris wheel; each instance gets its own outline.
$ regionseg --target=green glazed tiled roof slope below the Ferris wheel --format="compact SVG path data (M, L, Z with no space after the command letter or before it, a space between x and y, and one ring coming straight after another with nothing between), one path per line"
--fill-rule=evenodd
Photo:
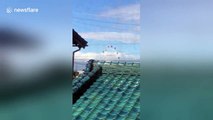
M140 65L97 64L103 74L73 105L73 120L139 119Z

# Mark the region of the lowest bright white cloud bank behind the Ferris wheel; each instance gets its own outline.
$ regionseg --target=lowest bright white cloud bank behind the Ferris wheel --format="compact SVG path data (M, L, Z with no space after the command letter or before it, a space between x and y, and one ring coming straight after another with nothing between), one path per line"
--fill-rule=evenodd
M88 59L95 59L95 60L139 60L139 55L131 55L127 53L114 53L114 52L105 52L105 53L96 53L96 52L77 52L75 54L75 59L82 59L82 60L88 60Z

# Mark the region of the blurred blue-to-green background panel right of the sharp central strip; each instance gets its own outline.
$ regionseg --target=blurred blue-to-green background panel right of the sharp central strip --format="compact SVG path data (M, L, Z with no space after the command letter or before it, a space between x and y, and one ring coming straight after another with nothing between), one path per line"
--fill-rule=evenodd
M212 4L141 2L143 119L212 120Z

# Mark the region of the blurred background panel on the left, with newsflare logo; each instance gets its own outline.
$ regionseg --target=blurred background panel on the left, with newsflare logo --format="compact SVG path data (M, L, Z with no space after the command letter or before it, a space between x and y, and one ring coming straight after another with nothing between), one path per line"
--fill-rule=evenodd
M0 1L1 120L71 119L70 5Z

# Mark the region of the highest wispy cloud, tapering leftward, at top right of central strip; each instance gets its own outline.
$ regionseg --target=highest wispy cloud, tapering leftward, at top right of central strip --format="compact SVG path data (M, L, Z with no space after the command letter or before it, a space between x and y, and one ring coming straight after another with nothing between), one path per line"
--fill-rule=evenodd
M108 11L104 11L100 14L101 17L115 18L121 21L134 21L140 22L140 4L132 4L128 6L122 6Z

